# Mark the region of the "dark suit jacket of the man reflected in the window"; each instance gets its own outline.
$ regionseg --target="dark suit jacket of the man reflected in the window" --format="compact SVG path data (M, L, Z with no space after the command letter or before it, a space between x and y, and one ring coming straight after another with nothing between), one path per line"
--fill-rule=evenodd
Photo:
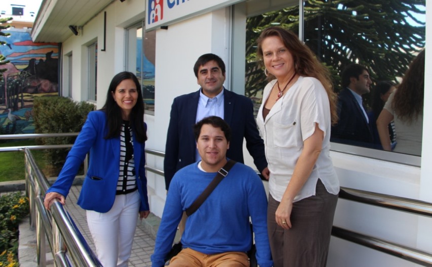
M344 88L339 92L337 111L338 123L332 127L331 141L360 146L373 146L371 124L352 92Z

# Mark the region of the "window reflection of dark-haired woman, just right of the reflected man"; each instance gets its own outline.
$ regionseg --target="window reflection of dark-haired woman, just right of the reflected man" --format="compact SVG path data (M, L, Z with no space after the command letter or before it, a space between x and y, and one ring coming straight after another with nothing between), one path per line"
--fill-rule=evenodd
M372 112L369 114L369 120L372 120L372 132L374 134L374 143L378 146L381 145L379 141L378 129L376 127L376 120L378 119L379 114L384 108L384 104L387 101L390 94L395 91L395 86L390 81L380 81L376 84L373 90L373 99L372 99ZM395 131L395 122L391 121L388 124L388 133L390 137L391 147L394 148L396 145L396 131Z

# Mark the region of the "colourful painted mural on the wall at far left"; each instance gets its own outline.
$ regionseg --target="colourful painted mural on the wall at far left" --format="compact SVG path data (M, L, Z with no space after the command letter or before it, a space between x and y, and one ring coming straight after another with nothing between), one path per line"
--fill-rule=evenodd
M0 134L34 133L33 99L58 95L58 43L34 43L28 31L6 30L0 53L10 61L0 79Z

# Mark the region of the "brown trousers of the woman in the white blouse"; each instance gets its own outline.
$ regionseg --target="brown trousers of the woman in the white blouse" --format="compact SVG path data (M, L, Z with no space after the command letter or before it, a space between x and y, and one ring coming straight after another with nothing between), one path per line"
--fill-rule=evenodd
M325 267L338 196L318 179L316 195L293 203L292 228L276 223L278 201L269 195L267 228L274 267Z

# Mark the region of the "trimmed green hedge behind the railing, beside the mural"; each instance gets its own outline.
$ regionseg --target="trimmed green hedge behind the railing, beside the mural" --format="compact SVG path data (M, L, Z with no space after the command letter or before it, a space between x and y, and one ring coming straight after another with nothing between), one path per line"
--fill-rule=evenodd
M34 99L34 125L36 133L80 132L87 114L95 106L87 102L74 102L67 97L39 97ZM73 144L76 137L52 137L36 139L41 145ZM47 149L47 164L58 171L63 166L70 149Z

